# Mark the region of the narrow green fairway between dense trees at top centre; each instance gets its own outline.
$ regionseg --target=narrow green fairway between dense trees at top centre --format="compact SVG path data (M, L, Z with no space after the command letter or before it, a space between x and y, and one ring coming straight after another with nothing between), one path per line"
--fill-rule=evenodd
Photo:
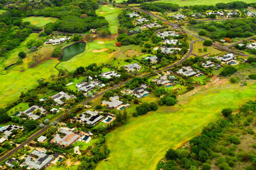
M114 8L114 9L110 9ZM109 23L109 30L111 34L117 34L117 26L119 26L119 22L117 19L118 14L122 9L113 7L112 5L104 6L100 5L100 7L95 11L98 16L104 16L105 19ZM101 13L104 12L104 13Z

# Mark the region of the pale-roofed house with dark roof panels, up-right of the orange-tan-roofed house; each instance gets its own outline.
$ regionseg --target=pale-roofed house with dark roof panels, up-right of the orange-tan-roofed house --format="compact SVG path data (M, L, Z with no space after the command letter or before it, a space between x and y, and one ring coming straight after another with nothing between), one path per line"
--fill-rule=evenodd
M99 112L94 110L87 110L83 114L80 114L78 116L73 117L72 121L82 123L83 125L89 124L91 126L94 126L98 122L100 122L104 117L98 114ZM70 119L70 121L71 121Z

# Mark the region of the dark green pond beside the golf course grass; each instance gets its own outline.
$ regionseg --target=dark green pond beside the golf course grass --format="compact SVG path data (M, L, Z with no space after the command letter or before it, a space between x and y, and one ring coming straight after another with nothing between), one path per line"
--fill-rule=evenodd
M59 61L69 61L74 56L83 53L84 50L85 43L78 42L76 44L73 44L72 46L69 46L63 50L63 55L59 58Z

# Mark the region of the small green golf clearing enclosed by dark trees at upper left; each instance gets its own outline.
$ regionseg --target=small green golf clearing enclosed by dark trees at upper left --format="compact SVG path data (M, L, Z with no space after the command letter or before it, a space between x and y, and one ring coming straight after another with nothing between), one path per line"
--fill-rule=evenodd
M58 18L44 17L44 16L30 16L30 17L24 18L22 20L23 20L23 22L29 21L32 25L42 27L42 26L46 25L46 23L58 20Z

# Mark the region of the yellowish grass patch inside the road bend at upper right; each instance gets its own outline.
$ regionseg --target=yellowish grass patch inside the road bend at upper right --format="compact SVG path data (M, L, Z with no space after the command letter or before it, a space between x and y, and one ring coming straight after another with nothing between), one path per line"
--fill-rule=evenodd
M196 54L198 56L201 56L201 55L205 55L205 54L218 54L218 53L221 53L221 51L213 48L212 46L204 46L203 45L204 41L197 41L193 44L193 54ZM204 52L204 47L207 48L207 51ZM201 48L202 49L202 52L199 52L198 49Z

